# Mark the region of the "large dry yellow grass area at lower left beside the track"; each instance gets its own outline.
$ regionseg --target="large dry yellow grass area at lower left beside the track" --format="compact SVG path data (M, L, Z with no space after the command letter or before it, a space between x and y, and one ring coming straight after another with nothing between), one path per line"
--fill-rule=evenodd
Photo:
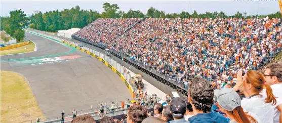
M1 122L30 122L46 119L23 76L1 71Z

